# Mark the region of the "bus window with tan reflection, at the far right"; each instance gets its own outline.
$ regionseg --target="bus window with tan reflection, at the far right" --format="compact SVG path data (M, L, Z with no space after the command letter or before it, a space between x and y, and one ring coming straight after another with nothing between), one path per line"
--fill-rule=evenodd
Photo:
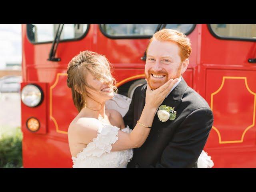
M256 41L256 24L210 24L209 29L216 38Z

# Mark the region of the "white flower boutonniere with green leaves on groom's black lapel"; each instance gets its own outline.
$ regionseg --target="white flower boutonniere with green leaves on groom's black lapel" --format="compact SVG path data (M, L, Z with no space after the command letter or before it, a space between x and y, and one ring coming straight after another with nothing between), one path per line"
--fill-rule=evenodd
M166 122L168 119L173 121L176 118L177 112L174 111L174 107L169 107L166 105L161 105L157 111L157 116L160 121Z

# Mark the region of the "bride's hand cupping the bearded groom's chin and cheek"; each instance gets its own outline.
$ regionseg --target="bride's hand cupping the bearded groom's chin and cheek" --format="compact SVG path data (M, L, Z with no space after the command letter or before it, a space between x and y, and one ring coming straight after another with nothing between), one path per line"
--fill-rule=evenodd
M145 79L148 83L148 80ZM167 94L171 91L172 87L176 82L178 82L178 78L176 79L170 79L168 80L165 84L160 86L159 88L155 90L151 90L149 84L147 85L147 90L146 90L146 100L145 100L145 105L147 105L150 108L157 109L160 104L164 101L166 98Z

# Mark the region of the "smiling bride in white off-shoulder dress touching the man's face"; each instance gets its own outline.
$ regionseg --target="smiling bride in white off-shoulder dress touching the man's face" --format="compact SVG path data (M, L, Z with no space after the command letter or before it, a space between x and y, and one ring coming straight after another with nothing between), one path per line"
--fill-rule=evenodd
M79 111L68 128L73 168L126 168L132 159L132 148L144 144L158 107L178 79L170 79L154 91L148 86L144 109L132 130L125 127L122 118L124 108L129 108L130 98L116 94L115 80L105 56L90 51L80 52L69 62L67 73L67 85ZM117 99L113 99L114 95ZM122 104L124 107L120 107ZM202 151L198 167L212 166L210 156Z

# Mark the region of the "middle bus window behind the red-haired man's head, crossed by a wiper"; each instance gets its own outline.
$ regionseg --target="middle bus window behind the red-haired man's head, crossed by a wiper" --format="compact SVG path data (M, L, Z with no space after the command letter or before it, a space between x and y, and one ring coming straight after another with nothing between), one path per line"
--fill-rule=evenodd
M158 24L100 24L100 29L109 38L150 38ZM186 35L194 29L194 24L166 24L166 28L175 29Z

